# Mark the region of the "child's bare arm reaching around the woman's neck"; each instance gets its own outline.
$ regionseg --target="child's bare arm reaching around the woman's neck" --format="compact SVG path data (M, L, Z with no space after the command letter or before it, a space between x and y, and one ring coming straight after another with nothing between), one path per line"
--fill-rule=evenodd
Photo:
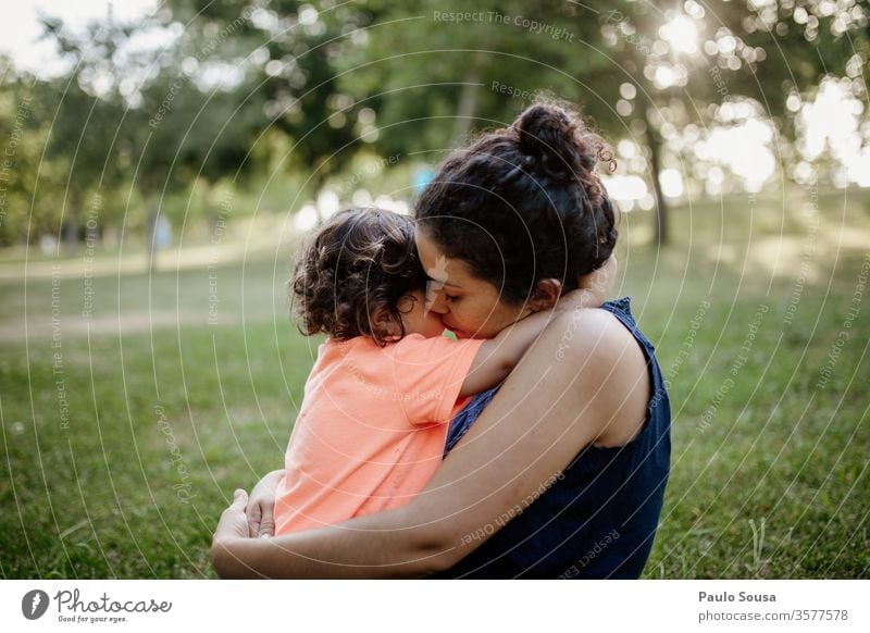
M581 288L566 294L551 310L530 314L481 345L465 376L460 396L495 387L517 367L525 351L557 314L579 308L598 308L606 300L602 290Z

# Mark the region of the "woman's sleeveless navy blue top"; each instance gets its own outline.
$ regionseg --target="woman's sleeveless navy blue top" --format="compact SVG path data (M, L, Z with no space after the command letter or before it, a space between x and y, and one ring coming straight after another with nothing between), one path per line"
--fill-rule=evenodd
M652 395L641 433L619 447L588 445L547 491L456 566L435 578L636 579L656 535L670 472L671 408L652 344L629 298L608 301L643 349ZM450 423L445 456L492 401L477 394Z

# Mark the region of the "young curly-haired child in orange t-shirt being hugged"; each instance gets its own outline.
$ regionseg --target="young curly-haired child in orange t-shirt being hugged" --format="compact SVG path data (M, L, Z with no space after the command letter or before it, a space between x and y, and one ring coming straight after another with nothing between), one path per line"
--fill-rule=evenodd
M275 534L409 501L440 463L453 414L510 373L554 312L488 340L443 336L412 222L376 209L335 215L290 285L302 332L328 337L287 448Z

